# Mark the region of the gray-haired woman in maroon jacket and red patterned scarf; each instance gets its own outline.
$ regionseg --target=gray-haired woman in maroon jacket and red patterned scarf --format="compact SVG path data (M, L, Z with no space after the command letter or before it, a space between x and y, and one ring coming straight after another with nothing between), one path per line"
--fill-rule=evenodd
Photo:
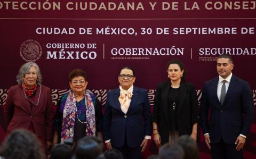
M41 85L42 75L34 62L21 66L17 82L18 85L9 89L4 106L6 135L15 129L25 128L34 132L49 148L53 134L51 89Z

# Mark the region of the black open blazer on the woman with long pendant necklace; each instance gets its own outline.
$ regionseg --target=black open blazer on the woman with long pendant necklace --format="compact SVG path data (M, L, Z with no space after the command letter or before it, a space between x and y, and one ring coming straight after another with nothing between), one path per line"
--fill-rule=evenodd
M153 108L153 121L157 123L162 144L168 143L170 132L170 116L168 93L171 82L159 83L156 90ZM192 83L181 82L178 106L179 136L190 135L193 125L198 122L198 102L195 87Z

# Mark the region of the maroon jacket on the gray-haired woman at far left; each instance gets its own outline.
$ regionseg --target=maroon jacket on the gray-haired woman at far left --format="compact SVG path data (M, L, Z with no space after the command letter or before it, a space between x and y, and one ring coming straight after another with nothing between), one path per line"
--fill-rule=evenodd
M36 90L35 103L38 101L40 87ZM4 117L7 133L14 129L28 129L33 124L35 134L52 140L53 109L50 88L42 85L41 95L37 106L31 105L24 94L21 85L12 86L8 91L4 107Z

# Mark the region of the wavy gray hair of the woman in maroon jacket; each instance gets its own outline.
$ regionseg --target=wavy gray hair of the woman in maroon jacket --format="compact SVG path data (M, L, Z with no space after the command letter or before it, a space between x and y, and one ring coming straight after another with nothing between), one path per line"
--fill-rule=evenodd
M16 77L19 85L23 82L23 78L25 77L26 73L29 71L31 66L34 66L36 68L36 74L37 74L36 82L39 85L41 85L42 74L39 69L39 66L35 62L27 62L20 67L19 73L17 74L17 77Z

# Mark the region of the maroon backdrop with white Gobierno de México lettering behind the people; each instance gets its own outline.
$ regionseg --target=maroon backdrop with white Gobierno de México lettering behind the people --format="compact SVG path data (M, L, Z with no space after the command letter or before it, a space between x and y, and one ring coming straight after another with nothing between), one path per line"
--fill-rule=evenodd
M148 89L153 106L157 83L167 80L166 63L174 57L185 63L187 81L195 84L200 100L204 82L217 76L215 58L223 52L234 55L233 73L249 81L256 104L255 1L152 1L154 9L149 1L45 2L0 1L0 105L17 83L20 66L35 61L43 85L52 89L53 105L68 91L68 73L75 68L87 72L88 89L104 104L107 91L118 87L119 69L129 65L137 74L135 85ZM128 10L129 5L134 9ZM47 28L57 32L43 34ZM3 140L5 126L0 121ZM254 118L244 158L256 157L255 140ZM209 158L200 128L197 142L202 158ZM145 156L153 151L151 146Z

